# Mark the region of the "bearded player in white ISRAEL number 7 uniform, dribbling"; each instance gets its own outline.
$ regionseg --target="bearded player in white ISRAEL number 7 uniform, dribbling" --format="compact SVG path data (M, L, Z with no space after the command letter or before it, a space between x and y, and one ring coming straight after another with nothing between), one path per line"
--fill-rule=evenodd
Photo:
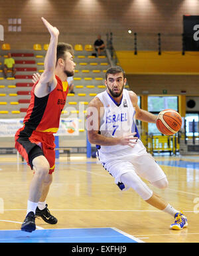
M121 67L107 70L107 90L98 94L88 108L88 140L97 145L101 164L121 190L133 188L147 203L174 217L171 229L182 229L188 225L184 214L141 180L144 178L160 189L168 186L165 173L147 153L135 125L135 118L155 123L157 116L139 108L135 92L123 89L126 82Z

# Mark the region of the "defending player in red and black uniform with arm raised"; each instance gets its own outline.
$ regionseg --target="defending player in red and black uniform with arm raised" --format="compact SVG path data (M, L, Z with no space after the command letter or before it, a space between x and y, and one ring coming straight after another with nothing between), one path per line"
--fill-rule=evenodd
M46 204L55 164L53 133L58 130L60 115L66 103L66 79L74 75L76 66L72 46L58 43L58 29L52 27L46 19L42 18L42 21L50 33L44 72L31 90L31 102L23 121L24 126L15 134L15 148L34 170L27 216L21 226L21 230L27 232L36 229L35 216L42 217L50 224L57 223Z

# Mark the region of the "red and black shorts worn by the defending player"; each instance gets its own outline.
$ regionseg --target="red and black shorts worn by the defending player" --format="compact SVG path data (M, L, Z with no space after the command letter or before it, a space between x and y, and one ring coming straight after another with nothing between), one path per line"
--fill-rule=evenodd
M33 159L44 156L50 165L49 174L55 167L54 135L51 132L37 132L23 126L15 134L15 148L33 170Z

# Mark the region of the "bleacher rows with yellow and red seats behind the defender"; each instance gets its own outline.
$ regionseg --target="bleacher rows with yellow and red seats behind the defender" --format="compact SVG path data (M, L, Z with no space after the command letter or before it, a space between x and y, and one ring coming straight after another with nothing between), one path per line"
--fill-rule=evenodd
M0 118L24 117L31 98L32 76L34 72L42 73L44 70L44 57L48 45L37 45L32 50L13 50L12 57L15 59L17 73L15 78L8 73L8 78L3 78L3 61L7 51L1 51L0 63ZM70 113L78 113L79 104L86 105L96 94L105 89L104 76L109 67L106 56L92 56L92 46L75 45L74 61L76 71L74 74L74 92L68 94L63 115L68 114L66 108L76 110ZM81 103L80 103L81 102ZM84 110L84 114L85 114Z

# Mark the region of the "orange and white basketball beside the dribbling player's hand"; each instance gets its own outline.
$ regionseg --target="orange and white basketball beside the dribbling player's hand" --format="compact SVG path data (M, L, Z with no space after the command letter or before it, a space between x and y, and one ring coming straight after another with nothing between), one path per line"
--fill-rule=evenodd
M156 125L162 134L176 134L182 126L182 118L176 110L165 109L159 112Z

